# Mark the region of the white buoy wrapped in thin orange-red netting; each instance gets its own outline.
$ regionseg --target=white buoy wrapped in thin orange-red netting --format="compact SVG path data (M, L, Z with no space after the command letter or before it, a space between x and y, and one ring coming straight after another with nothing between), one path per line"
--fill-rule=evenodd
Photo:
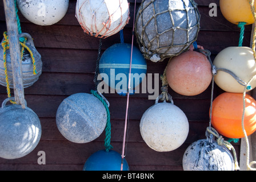
M128 23L129 4L127 0L78 0L75 16L86 34L107 38Z

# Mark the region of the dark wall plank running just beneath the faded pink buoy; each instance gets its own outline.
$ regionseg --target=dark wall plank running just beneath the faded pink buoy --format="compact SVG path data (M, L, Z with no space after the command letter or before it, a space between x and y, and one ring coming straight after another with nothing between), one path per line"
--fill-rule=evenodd
M27 106L30 107L38 117L55 117L58 106L67 96L50 95L31 95L25 94ZM7 98L6 94L0 94L0 100ZM108 97L110 102L110 114L113 119L125 118L126 97ZM152 105L154 100L147 98L130 98L129 119L139 120L142 114ZM178 106L187 115L189 121L207 121L209 120L210 100L174 100Z

